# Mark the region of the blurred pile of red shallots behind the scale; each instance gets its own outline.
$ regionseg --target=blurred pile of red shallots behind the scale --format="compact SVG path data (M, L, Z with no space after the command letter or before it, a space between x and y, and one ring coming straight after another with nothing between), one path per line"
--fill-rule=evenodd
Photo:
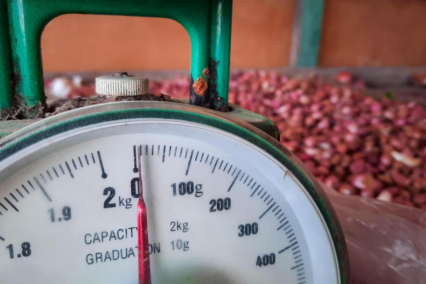
M234 72L229 101L273 120L280 142L331 188L426 209L426 110L365 96L348 72L336 79ZM150 92L188 98L189 85L176 77L150 82Z

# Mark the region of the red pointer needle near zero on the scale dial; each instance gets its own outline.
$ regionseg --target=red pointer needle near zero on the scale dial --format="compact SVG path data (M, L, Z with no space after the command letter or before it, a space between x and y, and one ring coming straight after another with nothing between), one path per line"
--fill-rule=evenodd
M138 147L139 202L138 202L138 270L139 284L151 284L150 251L148 246L147 206L142 195L141 148Z

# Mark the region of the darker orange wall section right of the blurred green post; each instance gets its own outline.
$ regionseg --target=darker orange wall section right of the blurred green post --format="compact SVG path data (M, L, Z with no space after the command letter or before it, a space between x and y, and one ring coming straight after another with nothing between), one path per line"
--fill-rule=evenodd
M426 65L426 1L326 0L322 66Z

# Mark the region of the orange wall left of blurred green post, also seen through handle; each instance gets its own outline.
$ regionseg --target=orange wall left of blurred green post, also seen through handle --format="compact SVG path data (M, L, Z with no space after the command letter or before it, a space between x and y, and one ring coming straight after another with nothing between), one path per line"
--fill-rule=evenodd
M294 0L234 0L233 67L288 64L293 5ZM47 72L190 67L189 36L167 19L63 15L46 26L41 46Z

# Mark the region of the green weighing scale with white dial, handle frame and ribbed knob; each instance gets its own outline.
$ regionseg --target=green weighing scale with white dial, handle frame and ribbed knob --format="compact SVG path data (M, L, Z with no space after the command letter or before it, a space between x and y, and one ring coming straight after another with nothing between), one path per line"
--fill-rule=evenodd
M192 82L190 103L97 104L16 132L22 121L2 122L1 283L347 283L321 185L269 119L227 103L231 1L6 2L2 106L28 118L45 101L40 34L60 14L177 20ZM146 84L120 73L96 89L138 96Z

